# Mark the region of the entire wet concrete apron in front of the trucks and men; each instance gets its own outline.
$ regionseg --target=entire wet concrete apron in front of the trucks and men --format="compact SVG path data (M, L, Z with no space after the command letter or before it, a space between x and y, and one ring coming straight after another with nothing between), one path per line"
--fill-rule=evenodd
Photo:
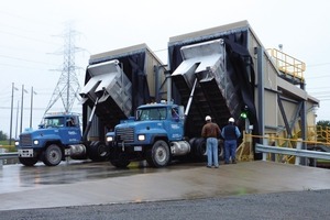
M0 168L0 210L211 198L330 189L330 169L242 162L207 168L202 163L151 168L103 163Z

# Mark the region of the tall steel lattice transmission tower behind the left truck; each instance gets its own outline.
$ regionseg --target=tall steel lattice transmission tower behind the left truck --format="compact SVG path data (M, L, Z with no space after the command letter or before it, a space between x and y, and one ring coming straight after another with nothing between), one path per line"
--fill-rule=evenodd
M50 111L50 109L61 98L65 112L70 112L75 100L79 100L78 92L80 90L79 80L76 75L75 64L75 54L80 48L75 46L75 37L78 33L72 30L72 25L68 25L64 33L64 51L62 54L64 55L63 67L59 69L62 75L57 81L57 85L54 89L52 98L48 102L48 106L45 110L45 114Z

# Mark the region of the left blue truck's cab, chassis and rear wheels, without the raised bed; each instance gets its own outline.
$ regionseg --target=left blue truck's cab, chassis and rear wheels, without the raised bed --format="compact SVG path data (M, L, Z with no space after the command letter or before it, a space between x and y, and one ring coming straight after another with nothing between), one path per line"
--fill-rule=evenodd
M108 156L105 143L82 141L79 114L52 113L45 116L37 130L26 130L15 142L19 161L33 166L42 161L47 166L56 166L66 156L99 161ZM88 147L87 147L88 146Z

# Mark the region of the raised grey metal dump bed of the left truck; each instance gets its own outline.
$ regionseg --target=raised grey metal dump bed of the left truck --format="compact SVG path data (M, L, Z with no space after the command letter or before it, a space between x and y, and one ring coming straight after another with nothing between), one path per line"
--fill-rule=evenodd
M113 116L128 118L132 110L132 82L118 59L89 65L90 79L80 91L82 103L92 108L98 99L96 114L110 124Z

